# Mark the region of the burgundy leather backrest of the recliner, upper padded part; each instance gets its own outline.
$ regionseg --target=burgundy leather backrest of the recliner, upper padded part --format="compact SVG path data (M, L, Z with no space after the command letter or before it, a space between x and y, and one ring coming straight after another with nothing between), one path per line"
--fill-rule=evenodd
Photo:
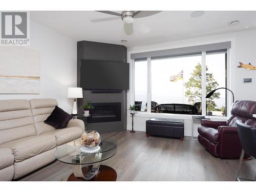
M236 101L231 107L231 116L227 120L229 126L237 126L237 121L248 125L256 125L256 118L252 115L256 114L256 101Z

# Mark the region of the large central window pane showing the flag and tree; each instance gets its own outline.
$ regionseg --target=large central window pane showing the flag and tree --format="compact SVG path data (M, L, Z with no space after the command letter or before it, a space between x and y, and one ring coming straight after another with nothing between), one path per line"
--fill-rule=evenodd
M160 104L159 113L169 104L169 113L187 114L187 110L198 108L192 113L201 114L201 55L167 57L151 61L151 98ZM187 104L187 105L186 105ZM153 109L152 109L153 112ZM164 110L164 112L168 112Z

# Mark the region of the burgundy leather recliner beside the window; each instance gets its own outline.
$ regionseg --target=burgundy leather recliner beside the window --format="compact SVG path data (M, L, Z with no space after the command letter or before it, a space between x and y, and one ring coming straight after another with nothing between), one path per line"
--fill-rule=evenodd
M198 141L208 152L221 158L239 158L241 144L237 130L237 120L256 126L256 101L236 101L231 107L227 121L201 120L198 127Z

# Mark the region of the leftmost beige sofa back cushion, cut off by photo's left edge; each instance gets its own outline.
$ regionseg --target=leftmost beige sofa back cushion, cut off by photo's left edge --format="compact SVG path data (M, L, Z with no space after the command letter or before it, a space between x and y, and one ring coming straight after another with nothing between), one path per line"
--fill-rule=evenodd
M26 99L0 100L0 144L36 135Z

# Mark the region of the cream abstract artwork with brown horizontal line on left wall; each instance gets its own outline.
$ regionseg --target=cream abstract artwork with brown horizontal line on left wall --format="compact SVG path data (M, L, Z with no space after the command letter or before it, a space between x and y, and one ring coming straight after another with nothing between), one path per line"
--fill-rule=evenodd
M0 46L0 94L40 93L40 53L19 46Z

